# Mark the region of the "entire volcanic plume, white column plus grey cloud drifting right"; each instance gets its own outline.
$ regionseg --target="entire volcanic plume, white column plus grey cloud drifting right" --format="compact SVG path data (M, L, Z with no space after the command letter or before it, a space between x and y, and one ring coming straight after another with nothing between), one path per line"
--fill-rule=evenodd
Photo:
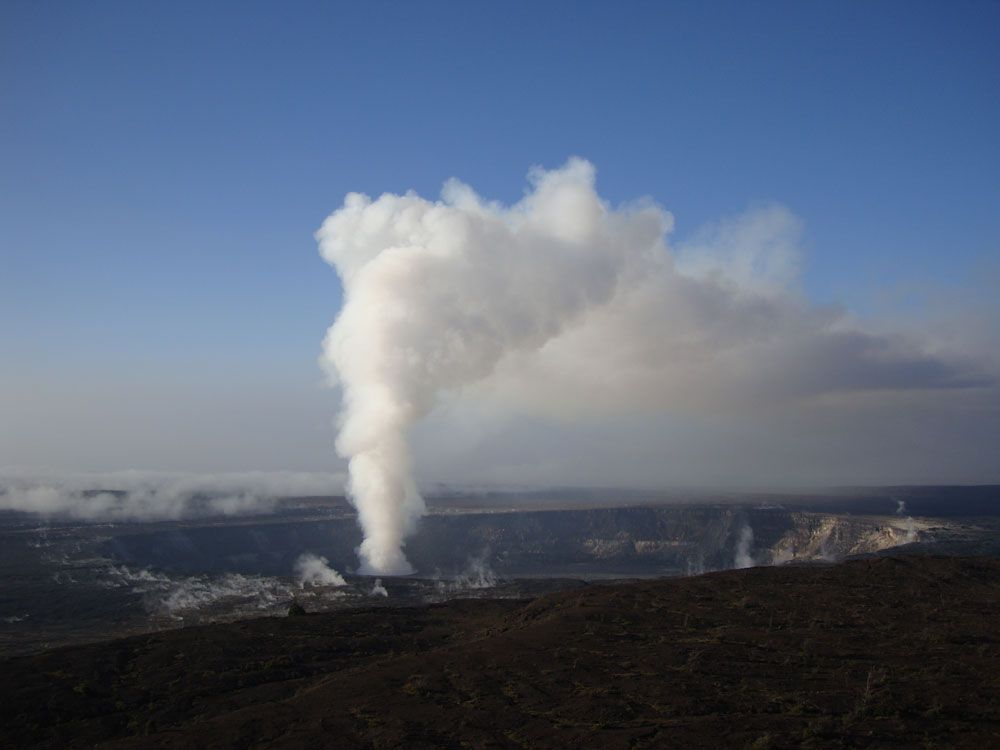
M337 449L349 459L364 530L362 572L411 570L403 546L424 504L409 441L432 411L434 434L419 430L421 447L437 442L439 454L451 453L443 473L453 480L669 483L655 474L670 463L656 455L669 442L664 425L701 420L680 444L698 450L685 461L710 483L719 479L714 466L739 473L745 464L757 479L753 469L763 465L699 450L699 436L709 435L701 442L718 453L723 441L712 429L736 434L739 451L767 445L765 430L788 435L766 475L808 467L814 473L796 479L825 481L822 467L850 445L840 433L865 414L996 407L992 378L975 366L810 305L795 287L801 227L781 206L720 222L671 249L672 216L650 201L608 205L585 161L535 170L529 182L512 206L456 181L437 202L350 194L317 233L344 288L322 363L343 394ZM935 393L965 395L928 396ZM435 410L442 403L448 408ZM878 424L895 424L884 413ZM656 415L667 416L654 423ZM489 427L469 426L503 429L519 418L533 429L515 430L497 450ZM558 443L567 441L538 437L540 419L569 425L560 437L571 439L586 423L585 461L572 446L576 458L557 463ZM635 437L623 443L629 429ZM491 465L455 471L465 446L449 446L448 435L479 443ZM616 445L625 445L615 454L624 476L587 475ZM532 464L521 472L525 451ZM650 476L631 472L632 454ZM504 463L513 475L491 473Z

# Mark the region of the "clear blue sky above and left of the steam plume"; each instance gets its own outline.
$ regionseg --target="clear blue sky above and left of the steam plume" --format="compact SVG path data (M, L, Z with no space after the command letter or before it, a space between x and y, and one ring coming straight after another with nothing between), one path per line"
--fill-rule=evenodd
M333 466L349 191L579 155L679 239L786 206L816 302L988 297L998 133L997 2L4 0L0 465Z

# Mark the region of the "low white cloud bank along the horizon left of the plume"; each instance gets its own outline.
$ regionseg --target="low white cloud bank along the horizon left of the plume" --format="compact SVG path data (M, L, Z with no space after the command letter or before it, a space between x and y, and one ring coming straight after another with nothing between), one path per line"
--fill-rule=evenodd
M0 509L83 521L163 521L269 513L281 498L339 495L342 474L0 469Z

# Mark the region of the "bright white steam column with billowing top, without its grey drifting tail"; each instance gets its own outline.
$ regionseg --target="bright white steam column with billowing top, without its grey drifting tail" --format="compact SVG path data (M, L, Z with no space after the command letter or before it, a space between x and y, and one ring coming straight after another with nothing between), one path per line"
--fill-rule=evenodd
M322 361L343 389L337 450L350 459L363 573L412 572L403 544L424 503L408 433L439 397L541 348L664 251L670 214L609 207L589 163L530 182L510 207L456 181L438 202L352 193L317 233L344 288Z

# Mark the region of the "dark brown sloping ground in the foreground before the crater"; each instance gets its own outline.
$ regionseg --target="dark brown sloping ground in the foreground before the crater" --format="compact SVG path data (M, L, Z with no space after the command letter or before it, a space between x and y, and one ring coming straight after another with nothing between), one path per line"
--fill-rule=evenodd
M3 747L997 747L1000 559L264 618L0 674Z

